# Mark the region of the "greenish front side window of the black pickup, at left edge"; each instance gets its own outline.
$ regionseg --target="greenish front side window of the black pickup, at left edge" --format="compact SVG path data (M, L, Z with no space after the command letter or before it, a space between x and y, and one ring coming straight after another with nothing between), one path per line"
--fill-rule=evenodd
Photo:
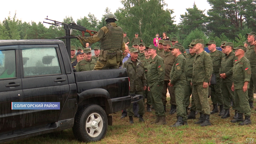
M16 77L15 50L0 51L0 78Z

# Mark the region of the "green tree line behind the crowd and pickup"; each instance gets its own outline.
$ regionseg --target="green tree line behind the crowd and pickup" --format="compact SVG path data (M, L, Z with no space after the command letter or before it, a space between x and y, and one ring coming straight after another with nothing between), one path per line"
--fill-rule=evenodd
M238 46L246 40L246 33L256 32L256 0L207 1L211 5L210 10L199 10L194 2L193 8L186 9L177 25L174 24L172 16L174 11L168 9L164 0L121 0L123 8L117 9L114 14L118 18L117 25L127 32L130 39L138 32L147 46L153 44L156 33L161 35L162 32L166 32L170 38L177 37L185 48L191 40L197 38L204 39L205 43L215 40L217 46L220 46L222 41L233 42L234 46ZM89 13L76 20L72 16L66 16L62 22L76 23L98 31L109 12L110 9L106 8L100 20ZM72 35L78 34L81 35L81 32L72 31ZM16 17L16 13L13 17L9 15L0 21L0 40L55 39L63 35L65 30L61 26L50 25L47 28L42 22L22 22ZM82 46L76 39L71 40L71 45ZM91 47L99 45L97 42Z

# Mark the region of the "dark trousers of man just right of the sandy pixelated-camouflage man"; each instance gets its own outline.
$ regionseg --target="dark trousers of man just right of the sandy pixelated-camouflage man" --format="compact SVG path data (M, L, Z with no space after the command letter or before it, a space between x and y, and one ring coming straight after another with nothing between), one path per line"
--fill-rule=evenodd
M223 105L222 96L222 80L218 74L216 75L216 85L210 85L211 88L211 100L213 104Z

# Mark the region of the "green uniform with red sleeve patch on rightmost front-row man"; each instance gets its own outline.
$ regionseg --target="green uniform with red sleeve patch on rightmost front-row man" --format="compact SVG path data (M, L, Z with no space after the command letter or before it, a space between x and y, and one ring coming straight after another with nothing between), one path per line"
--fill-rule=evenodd
M244 82L250 82L251 73L250 61L247 58L242 57L234 63L233 83L236 109L237 113L244 113L245 116L251 115L251 109L248 102L248 90L243 92L243 86ZM250 87L250 84L247 87Z

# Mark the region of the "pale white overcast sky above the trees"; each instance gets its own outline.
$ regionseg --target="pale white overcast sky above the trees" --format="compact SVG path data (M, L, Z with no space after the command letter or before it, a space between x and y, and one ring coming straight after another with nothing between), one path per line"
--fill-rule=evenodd
M72 3L73 2L73 3ZM185 14L187 8L193 8L195 2L199 10L211 9L211 6L207 0L165 0L168 4L168 9L173 9L175 16L175 24L180 22L180 15ZM68 1L68 0L12 0L12 1L1 1L0 9L0 21L4 18L12 18L16 11L16 18L23 22L34 21L38 23L43 22L48 16L49 19L56 21L62 21L66 16L72 16L74 20L88 16L89 12L94 14L97 19L101 19L102 15L105 14L105 9L108 7L110 12L114 13L118 8L123 8L120 0L79 0L79 1ZM10 14L9 14L10 13ZM48 20L45 20L50 22ZM47 26L48 24L44 24Z

